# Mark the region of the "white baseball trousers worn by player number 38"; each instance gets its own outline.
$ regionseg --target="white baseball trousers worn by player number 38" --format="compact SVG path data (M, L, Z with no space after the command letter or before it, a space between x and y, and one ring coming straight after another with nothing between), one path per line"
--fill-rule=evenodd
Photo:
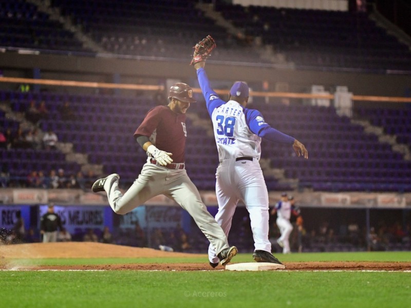
M215 220L223 231L228 236L235 208L238 201L242 200L250 215L255 250L271 253L268 240L268 192L259 162L256 159L223 160L217 167L216 179L218 212ZM211 245L209 259L212 263L218 262Z

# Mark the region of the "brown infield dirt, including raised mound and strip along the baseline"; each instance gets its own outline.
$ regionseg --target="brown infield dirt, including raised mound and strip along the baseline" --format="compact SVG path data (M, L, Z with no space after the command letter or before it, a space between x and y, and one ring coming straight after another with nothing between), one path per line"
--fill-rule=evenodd
M108 265L35 265L36 259L47 258L192 258L204 257L201 263L149 263ZM12 259L24 259L16 262ZM29 261L28 261L29 260ZM234 259L233 259L234 261ZM251 260L250 260L251 262ZM234 262L235 263L235 262ZM411 271L411 262L286 262L287 270L296 271ZM213 270L205 254L162 252L151 248L137 248L90 242L34 243L0 246L0 269L89 269L137 271L209 271ZM223 269L217 266L215 269Z

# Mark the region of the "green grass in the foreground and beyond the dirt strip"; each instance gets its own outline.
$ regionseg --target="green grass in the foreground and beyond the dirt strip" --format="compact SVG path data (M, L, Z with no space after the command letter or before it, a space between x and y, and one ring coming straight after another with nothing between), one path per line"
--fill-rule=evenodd
M250 258L249 254L240 254L235 262L250 262ZM291 254L281 256L281 259L285 263L410 262L411 252ZM44 265L137 262L201 263L204 259L35 261ZM0 271L0 290L0 307L409 307L411 273Z

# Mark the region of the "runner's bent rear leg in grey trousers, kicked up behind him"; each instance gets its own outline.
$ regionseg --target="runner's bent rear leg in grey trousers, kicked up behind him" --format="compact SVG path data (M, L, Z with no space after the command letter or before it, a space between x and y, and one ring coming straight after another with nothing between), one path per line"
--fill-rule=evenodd
M107 192L108 202L111 208L117 213L124 215L132 211L137 206L143 204L148 199L163 193L163 184L167 176L165 168L158 168L153 164L144 164L141 174L134 181L133 185L122 194L118 181L107 183L109 187L104 187Z

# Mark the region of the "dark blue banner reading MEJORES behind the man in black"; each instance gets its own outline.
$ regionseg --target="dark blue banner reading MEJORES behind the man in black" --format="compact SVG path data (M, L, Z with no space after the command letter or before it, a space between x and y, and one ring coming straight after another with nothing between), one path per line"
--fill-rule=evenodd
M47 213L48 206L39 207L40 218ZM104 206L58 206L54 205L54 213L57 213L63 227L73 233L76 229L104 228Z

